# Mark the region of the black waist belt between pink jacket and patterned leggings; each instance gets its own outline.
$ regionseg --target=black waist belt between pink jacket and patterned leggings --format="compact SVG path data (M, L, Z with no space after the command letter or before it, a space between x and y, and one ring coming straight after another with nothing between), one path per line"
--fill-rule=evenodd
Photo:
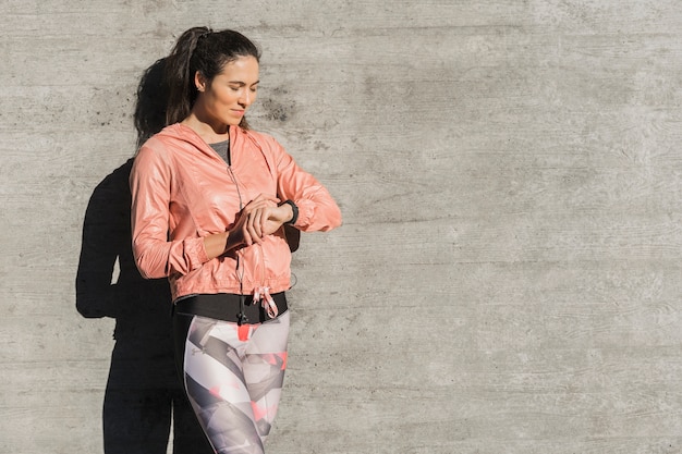
M273 293L270 296L277 305L278 312L284 314L288 309L284 292ZM260 302L254 302L251 295L232 293L200 294L179 299L175 302L175 312L238 322L242 302L246 316L245 323L263 323L271 320Z

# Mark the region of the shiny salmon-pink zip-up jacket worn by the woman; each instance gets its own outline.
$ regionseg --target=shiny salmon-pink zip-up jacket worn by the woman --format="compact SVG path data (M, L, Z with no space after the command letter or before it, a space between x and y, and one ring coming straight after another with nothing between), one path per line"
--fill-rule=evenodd
M232 172L192 128L173 124L147 140L135 158L135 261L145 278L168 277L173 299L290 287L291 253L283 229L259 245L212 260L206 256L203 237L229 230L240 207L260 193L293 200L299 207L294 226L302 231L341 225L341 212L327 189L272 137L231 126L230 149Z

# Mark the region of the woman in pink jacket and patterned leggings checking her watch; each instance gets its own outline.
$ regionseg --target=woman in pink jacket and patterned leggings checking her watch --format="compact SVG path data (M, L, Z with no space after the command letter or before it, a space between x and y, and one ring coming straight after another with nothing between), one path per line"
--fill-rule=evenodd
M287 365L284 224L328 231L327 189L244 114L259 51L233 30L186 30L167 58L167 124L131 172L141 273L168 277L175 357L217 453L263 453Z

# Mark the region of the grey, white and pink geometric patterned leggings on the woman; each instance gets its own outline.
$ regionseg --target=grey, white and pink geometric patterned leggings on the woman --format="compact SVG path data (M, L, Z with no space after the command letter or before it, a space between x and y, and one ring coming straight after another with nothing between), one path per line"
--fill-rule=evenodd
M175 360L218 454L263 454L287 367L289 311L238 326L175 314Z

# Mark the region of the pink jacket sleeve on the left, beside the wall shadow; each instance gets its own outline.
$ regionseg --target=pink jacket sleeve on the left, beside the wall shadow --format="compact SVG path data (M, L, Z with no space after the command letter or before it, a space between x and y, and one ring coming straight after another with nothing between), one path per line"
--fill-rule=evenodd
M162 147L143 146L131 171L133 256L141 274L186 274L208 261L204 238L169 241L172 168Z

